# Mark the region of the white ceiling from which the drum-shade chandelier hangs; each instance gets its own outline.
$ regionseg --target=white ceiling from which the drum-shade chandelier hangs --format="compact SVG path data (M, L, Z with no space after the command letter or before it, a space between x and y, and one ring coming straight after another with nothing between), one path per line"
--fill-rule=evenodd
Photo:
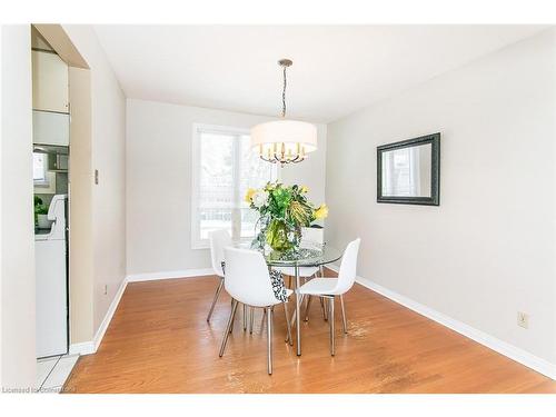
M329 122L539 26L96 26L129 98Z

